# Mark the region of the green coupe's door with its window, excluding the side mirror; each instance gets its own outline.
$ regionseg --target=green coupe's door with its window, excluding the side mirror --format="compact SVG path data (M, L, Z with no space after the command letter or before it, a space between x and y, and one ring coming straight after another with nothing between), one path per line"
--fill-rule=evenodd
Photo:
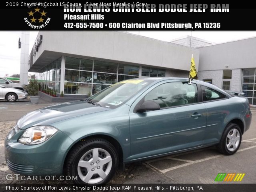
M168 80L138 97L129 112L131 160L202 146L207 114L198 100L198 88ZM160 110L134 112L146 100L157 102Z

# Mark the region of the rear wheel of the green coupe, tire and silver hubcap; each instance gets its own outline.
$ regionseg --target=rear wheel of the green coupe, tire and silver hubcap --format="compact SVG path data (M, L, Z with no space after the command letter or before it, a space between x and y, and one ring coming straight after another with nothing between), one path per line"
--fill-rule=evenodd
M240 127L235 123L229 123L222 134L217 149L225 155L232 155L239 149L241 141L242 132Z

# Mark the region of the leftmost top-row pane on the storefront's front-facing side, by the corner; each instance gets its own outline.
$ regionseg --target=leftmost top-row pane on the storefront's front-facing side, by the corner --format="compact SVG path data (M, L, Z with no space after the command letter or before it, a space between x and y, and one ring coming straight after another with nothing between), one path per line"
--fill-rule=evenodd
M93 60L66 57L65 68L92 71Z

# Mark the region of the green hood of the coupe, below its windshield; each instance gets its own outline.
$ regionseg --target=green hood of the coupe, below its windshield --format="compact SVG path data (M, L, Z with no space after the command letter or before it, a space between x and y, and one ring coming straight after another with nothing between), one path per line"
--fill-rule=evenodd
M17 122L17 125L20 129L26 129L36 125L50 125L61 120L106 110L111 109L95 106L81 100L66 102L30 112L20 118Z

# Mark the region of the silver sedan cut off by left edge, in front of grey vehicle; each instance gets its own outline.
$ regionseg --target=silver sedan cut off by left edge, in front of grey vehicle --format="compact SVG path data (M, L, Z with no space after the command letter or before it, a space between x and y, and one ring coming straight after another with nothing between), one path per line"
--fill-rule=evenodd
M7 100L8 102L15 102L17 99L26 99L28 94L25 91L6 88L5 86L0 85L0 100Z

